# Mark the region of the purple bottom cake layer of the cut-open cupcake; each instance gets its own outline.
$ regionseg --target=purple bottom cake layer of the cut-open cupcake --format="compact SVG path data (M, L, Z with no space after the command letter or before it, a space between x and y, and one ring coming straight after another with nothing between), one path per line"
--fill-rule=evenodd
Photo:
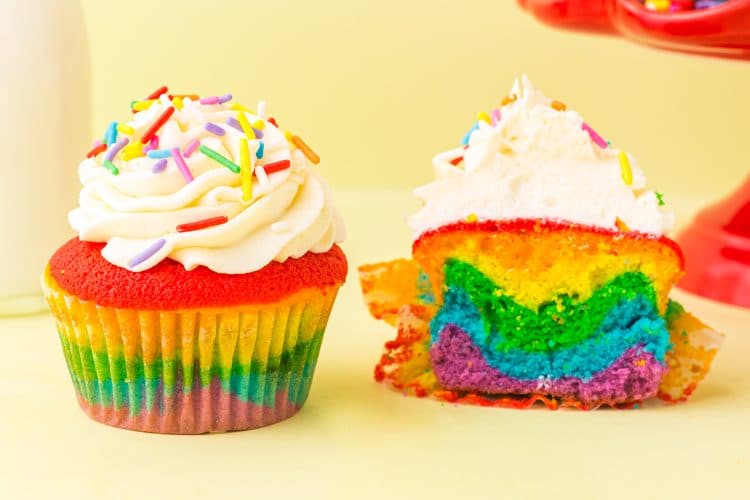
M575 399L586 406L638 402L656 395L666 367L640 347L627 350L590 380L575 377L523 380L491 367L469 335L449 324L430 349L440 384L450 390L483 394L544 394Z

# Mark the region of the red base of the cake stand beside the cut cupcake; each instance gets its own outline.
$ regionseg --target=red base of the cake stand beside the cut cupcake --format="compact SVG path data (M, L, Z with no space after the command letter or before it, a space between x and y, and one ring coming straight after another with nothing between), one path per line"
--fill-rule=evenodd
M750 307L750 177L734 194L703 209L677 241L687 261L681 288Z

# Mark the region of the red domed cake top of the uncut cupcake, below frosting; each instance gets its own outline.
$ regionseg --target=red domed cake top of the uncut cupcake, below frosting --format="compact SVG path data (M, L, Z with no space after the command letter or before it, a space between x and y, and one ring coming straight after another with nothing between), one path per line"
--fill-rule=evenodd
M203 266L186 271L171 259L136 273L107 262L103 246L73 238L55 252L49 266L63 290L106 307L175 310L267 304L303 288L341 284L347 272L346 257L337 245L326 253L308 252L247 274L219 274Z

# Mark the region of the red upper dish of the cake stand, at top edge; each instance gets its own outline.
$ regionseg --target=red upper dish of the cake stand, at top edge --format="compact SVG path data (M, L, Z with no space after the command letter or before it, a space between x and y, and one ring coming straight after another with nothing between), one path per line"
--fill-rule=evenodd
M750 0L685 12L655 12L639 0L518 0L540 21L620 34L662 49L750 60Z

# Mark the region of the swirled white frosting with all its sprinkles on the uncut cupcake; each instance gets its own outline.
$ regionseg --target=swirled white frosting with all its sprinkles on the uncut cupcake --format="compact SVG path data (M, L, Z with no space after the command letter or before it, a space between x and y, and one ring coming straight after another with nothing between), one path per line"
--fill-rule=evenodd
M69 214L83 241L131 271L165 258L187 270L256 271L344 238L317 156L265 115L166 89L134 102L79 166L83 188ZM159 92L159 91L157 91ZM152 97L152 96L149 96Z

